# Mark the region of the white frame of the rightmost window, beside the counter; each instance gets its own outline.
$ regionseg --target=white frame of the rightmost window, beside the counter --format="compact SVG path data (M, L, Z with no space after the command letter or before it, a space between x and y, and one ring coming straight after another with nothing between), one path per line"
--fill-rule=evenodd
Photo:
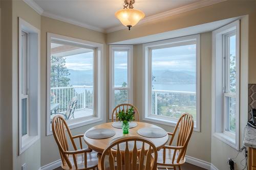
M228 91L227 61L228 42L226 37L236 34L236 93ZM221 77L220 77L221 75ZM212 32L212 136L227 143L234 149L240 147L240 20L229 23ZM226 130L226 97L236 98L236 133Z

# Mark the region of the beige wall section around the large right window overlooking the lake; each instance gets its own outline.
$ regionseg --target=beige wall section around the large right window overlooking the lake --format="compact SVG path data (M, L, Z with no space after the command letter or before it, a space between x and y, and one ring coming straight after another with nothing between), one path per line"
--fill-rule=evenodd
M142 120L143 109L143 48L134 45L134 105L138 107ZM201 132L193 132L188 145L187 155L211 162L211 33L201 34ZM168 132L174 127L156 124ZM203 152L198 152L202 150Z

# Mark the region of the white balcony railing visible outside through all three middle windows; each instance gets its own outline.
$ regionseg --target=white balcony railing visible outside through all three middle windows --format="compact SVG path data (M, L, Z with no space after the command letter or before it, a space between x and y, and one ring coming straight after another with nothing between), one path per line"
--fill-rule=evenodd
M51 95L52 94L54 94L56 99L51 102L59 104L58 108L68 108L69 102L72 98L74 98L74 96L76 96L76 111L93 109L92 86L52 87ZM115 96L115 98L117 98L118 100L127 99L127 96L124 96L127 95L127 93L118 93L118 95L119 96ZM120 103L121 101L116 102ZM166 105L176 106L176 108L179 108L180 106L194 107L196 104L196 92L153 89L152 106L154 107L154 114L160 114L158 113L158 107L163 103L165 103Z

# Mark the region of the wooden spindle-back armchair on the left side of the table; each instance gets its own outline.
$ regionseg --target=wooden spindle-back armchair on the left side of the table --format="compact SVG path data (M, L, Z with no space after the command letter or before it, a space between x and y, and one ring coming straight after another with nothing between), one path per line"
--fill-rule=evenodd
M72 136L71 131L60 115L53 117L52 132L58 145L62 169L93 169L98 164L97 153L90 148L82 148L82 135ZM71 140L74 151L69 150L67 134ZM79 138L80 149L77 149L74 139Z

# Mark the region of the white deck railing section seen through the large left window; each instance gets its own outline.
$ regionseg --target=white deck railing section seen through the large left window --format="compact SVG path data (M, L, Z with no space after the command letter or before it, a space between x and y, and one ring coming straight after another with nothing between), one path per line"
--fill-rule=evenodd
M93 86L51 87L51 96L55 96L51 103L59 104L58 108L68 108L76 96L76 110L93 109Z

